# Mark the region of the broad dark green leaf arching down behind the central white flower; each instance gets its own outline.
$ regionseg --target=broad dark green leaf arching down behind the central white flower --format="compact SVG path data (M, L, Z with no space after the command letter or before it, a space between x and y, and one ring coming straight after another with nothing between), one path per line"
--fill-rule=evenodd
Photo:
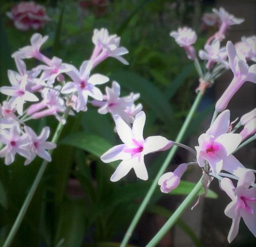
M177 121L174 118L173 109L166 96L150 81L132 72L119 71L111 74L111 79L116 80L126 89L140 93L140 97L156 113L164 123L169 126Z

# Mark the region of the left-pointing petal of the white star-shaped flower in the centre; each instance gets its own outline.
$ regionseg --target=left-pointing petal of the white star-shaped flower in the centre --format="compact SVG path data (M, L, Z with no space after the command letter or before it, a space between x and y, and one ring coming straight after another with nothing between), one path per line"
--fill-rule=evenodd
M131 159L131 154L123 152L125 144L113 146L107 152L105 152L100 158L104 163L109 163L117 160L128 160Z

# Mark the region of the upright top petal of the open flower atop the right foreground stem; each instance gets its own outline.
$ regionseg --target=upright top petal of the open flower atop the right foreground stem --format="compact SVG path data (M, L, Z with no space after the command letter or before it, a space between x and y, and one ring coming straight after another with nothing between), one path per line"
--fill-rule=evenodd
M227 133L230 125L230 111L225 110L215 119L213 124L209 127L206 134L214 135L215 138Z

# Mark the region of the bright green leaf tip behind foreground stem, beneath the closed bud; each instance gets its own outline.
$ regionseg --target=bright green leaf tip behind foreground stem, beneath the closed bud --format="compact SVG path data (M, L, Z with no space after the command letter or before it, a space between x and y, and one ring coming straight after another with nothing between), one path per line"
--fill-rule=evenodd
M179 186L175 190L172 190L171 192L169 192L168 194L169 195L188 195L191 192L191 190L195 187L195 185L196 185L195 183L181 180ZM198 193L198 195L201 195L203 193L204 193L204 189L202 188ZM208 190L206 197L215 199L215 198L218 198L218 195L214 191Z

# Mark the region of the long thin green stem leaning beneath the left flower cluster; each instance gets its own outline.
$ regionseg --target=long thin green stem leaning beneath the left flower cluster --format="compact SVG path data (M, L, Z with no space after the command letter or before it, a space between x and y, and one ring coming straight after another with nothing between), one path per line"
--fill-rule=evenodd
M64 119L67 119L67 116L68 116L69 112L70 112L70 107L67 107L67 109L66 109L66 111L64 112L64 115L63 115ZM58 126L57 126L57 128L55 130L55 133L54 133L54 135L52 137L52 143L57 143L58 138L61 135L61 131L62 131L63 127L64 127L63 124L61 124L61 123L58 124ZM53 149L49 150L49 154L50 155L52 155L52 151L53 151ZM20 209L20 212L17 215L17 218L16 218L14 224L12 225L12 229L11 229L9 235L7 236L6 241L3 244L3 247L9 247L12 244L12 241L13 241L16 233L17 233L17 230L20 227L21 222L23 221L23 218L24 218L24 216L26 214L26 211L28 210L29 204L32 201L32 198L33 198L33 196L35 194L35 191L36 191L36 189L38 187L38 184L41 181L41 178L42 178L42 176L44 174L44 171L45 171L48 163L49 162L46 161L46 160L43 161L43 163L42 163L42 165L41 165L41 167L40 167L40 169L38 171L38 174L36 175L35 180L34 180L34 182L32 184L32 187L29 190L29 193L26 196L25 201L23 202L23 205L22 205L22 207Z

